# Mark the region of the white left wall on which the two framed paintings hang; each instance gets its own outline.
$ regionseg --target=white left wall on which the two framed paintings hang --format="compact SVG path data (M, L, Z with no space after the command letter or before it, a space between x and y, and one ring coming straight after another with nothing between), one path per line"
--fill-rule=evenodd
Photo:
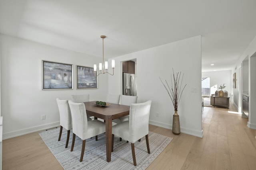
M76 90L76 65L90 66L102 58L0 35L1 114L3 139L59 125L56 98L90 94L106 100L108 76L98 78L98 89ZM73 90L42 90L42 60L73 64ZM46 115L41 120L41 115Z

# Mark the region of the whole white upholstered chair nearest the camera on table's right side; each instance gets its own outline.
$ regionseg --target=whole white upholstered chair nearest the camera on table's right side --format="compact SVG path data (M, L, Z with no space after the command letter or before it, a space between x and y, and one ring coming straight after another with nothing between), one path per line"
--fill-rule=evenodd
M132 159L136 166L134 143L142 137L146 137L148 153L150 153L148 142L148 121L152 101L131 104L129 121L118 123L112 127L112 151L114 146L114 135L131 142Z

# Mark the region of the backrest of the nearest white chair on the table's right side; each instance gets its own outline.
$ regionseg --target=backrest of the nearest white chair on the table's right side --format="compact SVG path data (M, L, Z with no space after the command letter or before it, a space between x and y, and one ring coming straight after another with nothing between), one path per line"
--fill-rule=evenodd
M131 104L129 117L130 135L135 140L148 135L148 122L152 100L144 103Z

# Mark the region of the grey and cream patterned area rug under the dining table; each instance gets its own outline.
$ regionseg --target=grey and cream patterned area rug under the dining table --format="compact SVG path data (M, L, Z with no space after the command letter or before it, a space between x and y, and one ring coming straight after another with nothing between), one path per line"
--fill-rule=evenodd
M172 141L171 137L149 132L151 153L148 154L146 139L143 137L140 142L135 143L137 166L134 166L131 144L124 140L119 141L118 137L114 138L114 151L111 154L111 161L107 162L105 134L101 134L98 135L98 141L95 141L95 138L86 140L84 158L79 162L82 140L76 137L74 150L70 152L72 131L70 131L68 148L65 148L66 130L62 131L60 141L58 141L59 131L60 128L56 128L40 132L39 135L65 170L144 170Z

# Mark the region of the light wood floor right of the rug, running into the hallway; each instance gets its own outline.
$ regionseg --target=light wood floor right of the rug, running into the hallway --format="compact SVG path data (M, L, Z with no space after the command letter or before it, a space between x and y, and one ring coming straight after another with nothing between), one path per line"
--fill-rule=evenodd
M230 103L229 109L204 107L203 138L150 125L150 131L174 139L146 170L255 170L256 130L247 121Z

